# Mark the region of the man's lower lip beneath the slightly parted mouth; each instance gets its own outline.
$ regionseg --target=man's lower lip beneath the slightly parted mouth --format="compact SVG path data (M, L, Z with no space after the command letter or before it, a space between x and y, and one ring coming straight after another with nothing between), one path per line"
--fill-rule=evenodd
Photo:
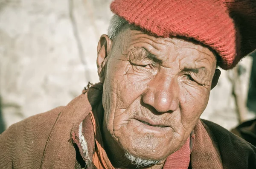
M144 124L137 119L134 119L134 123L137 125L136 128L138 128L140 132L144 132L144 133L146 132L146 133L154 133L154 134L156 133L163 134L171 130L171 127L154 127L154 126Z

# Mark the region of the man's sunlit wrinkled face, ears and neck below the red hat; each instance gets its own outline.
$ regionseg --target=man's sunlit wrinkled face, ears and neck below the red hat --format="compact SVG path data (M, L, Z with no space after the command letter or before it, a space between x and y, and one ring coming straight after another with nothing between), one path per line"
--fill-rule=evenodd
M102 35L97 66L104 83L105 147L119 168L134 167L124 150L143 159L163 160L151 166L162 168L186 142L220 75L209 48L131 29L114 40Z

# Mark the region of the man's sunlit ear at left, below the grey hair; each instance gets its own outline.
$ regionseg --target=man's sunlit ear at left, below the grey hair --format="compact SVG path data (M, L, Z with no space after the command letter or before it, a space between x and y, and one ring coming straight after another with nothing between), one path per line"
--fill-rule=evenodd
M108 55L110 54L112 49L112 40L108 37L108 35L103 34L97 46L97 68L98 68L98 75L99 81L104 82L105 80L105 69L106 69L106 62L108 59Z

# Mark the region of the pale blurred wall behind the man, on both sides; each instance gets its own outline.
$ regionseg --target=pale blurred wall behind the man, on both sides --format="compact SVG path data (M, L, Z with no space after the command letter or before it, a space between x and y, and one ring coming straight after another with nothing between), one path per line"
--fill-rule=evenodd
M0 132L66 105L89 81L99 82L96 45L107 33L110 2L0 0ZM243 107L249 87L256 86L256 80L250 80L252 63L256 65L248 56L234 70L221 70L202 118L231 129L239 123L238 112L244 119L255 116ZM255 92L251 88L250 93ZM256 97L249 98L253 107Z

